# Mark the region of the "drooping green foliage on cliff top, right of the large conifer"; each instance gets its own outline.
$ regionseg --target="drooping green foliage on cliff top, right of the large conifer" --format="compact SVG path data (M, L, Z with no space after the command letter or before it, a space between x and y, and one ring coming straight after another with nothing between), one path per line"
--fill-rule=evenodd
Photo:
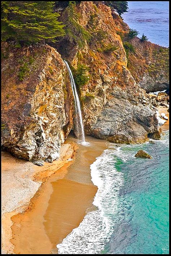
M85 42L89 42L91 34L79 24L79 14L76 12L76 3L70 1L65 9L66 16L66 38L71 43L78 43L79 47L84 46Z

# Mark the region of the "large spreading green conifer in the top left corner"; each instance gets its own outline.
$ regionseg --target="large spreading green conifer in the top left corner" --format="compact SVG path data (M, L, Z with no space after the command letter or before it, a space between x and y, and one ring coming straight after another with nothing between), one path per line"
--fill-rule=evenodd
M2 1L2 40L55 42L65 31L53 8L53 1Z

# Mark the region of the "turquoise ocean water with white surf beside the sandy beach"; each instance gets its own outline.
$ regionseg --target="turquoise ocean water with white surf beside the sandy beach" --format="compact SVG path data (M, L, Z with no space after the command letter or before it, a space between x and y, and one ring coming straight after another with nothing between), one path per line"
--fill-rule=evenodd
M61 244L58 254L168 254L168 146L113 143L90 166L98 187L89 211ZM139 149L152 159L135 158Z

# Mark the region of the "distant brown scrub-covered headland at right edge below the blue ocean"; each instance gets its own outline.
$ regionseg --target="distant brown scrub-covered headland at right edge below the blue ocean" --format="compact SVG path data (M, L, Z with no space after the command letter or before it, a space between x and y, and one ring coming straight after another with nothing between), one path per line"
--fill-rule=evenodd
M169 49L135 37L129 41L134 52L129 52L128 68L146 93L169 91Z

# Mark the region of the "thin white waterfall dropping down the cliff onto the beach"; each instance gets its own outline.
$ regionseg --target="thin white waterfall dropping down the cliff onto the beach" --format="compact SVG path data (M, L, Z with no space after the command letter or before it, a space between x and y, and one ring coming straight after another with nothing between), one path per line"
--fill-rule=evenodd
M78 93L76 91L76 85L75 85L75 81L74 81L74 77L73 74L71 72L71 69L67 63L66 60L63 60L66 64L66 67L69 71L69 75L70 75L70 81L71 81L71 87L73 90L73 95L74 95L74 101L75 101L75 123L76 122L76 117L78 116L78 131L79 131L79 135L81 135L81 139L83 142L85 142L85 135L84 135L84 125L83 125L83 118L82 118L82 112L81 112L81 107L80 107L80 101L79 101L79 97L78 97Z

